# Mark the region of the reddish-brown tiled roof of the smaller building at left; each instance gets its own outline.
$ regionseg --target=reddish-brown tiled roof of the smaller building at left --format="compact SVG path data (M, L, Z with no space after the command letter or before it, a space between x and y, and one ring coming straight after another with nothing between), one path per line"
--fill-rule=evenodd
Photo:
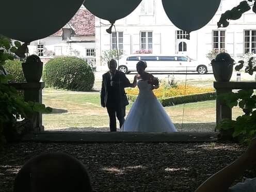
M74 17L62 28L71 28L74 36L94 36L95 16L82 5ZM62 36L62 28L51 36Z

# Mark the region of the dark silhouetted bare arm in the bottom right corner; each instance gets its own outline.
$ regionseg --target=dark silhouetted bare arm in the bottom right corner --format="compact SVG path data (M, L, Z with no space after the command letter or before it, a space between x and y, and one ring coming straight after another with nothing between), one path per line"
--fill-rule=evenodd
M243 172L255 164L256 138L253 138L247 151L233 163L218 171L201 184L195 192L227 192L232 183Z

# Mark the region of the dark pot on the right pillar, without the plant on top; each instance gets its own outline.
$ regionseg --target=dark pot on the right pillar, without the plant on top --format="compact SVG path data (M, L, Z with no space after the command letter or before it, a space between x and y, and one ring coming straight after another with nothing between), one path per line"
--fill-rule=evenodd
M233 63L214 61L212 63L213 75L217 82L229 82L233 73Z

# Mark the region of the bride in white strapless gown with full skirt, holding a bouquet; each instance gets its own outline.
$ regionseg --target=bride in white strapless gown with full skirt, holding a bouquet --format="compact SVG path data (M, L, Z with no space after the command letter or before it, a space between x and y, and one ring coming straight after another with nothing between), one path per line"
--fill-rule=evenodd
M134 76L132 87L138 85L139 95L134 102L121 131L124 132L175 132L162 104L156 99L153 89L159 87L158 79L145 72L147 63L139 61L136 65L138 74Z

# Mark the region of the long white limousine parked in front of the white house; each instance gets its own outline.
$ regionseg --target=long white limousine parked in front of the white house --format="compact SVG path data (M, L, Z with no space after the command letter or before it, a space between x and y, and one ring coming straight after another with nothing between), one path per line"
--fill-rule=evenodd
M153 55L153 54L133 54L124 55L119 60L118 70L127 74L136 71L136 63L139 60L147 62L148 72L198 72L205 74L212 72L212 66L209 63L200 63L183 55Z

